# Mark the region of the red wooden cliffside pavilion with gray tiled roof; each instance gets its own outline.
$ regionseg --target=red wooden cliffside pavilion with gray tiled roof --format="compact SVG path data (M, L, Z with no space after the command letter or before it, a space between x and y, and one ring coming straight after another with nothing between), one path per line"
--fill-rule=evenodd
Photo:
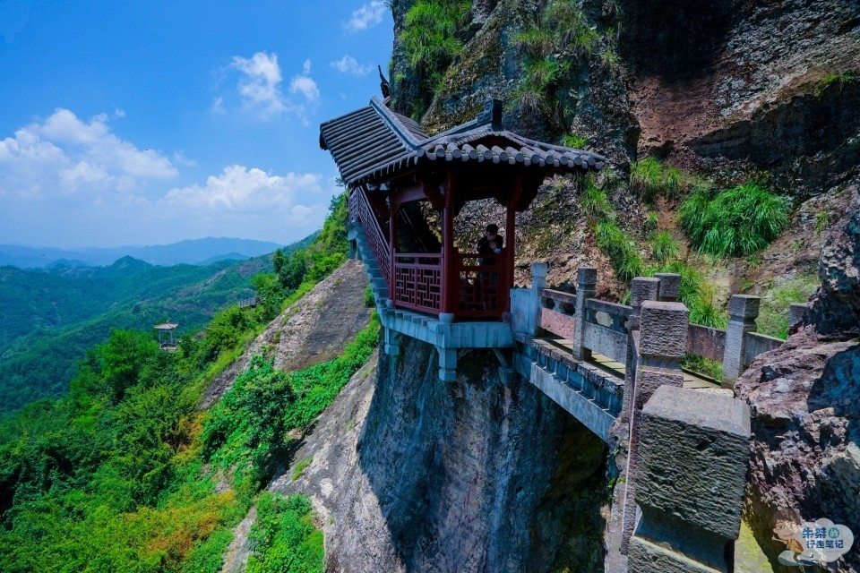
M433 136L387 102L373 98L325 122L320 146L348 186L350 219L364 229L388 304L444 322L501 320L510 311L516 213L529 208L547 176L599 171L606 159L505 130L495 99L473 121ZM469 201L486 199L506 210L498 222L503 250L460 252L454 218ZM421 210L409 209L417 201L439 211L441 241L427 233Z

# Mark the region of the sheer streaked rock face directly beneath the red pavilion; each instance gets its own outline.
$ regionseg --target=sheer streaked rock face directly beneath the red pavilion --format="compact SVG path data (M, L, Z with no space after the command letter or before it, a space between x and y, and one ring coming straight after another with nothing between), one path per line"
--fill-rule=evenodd
M602 570L606 447L537 389L498 381L495 355L438 380L405 340L359 372L305 439L292 481L312 496L328 571Z

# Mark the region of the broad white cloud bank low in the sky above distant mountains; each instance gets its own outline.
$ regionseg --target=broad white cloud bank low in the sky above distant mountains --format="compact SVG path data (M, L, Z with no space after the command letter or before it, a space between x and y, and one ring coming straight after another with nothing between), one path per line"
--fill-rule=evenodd
M309 72L309 69L305 69ZM297 98L304 98L298 95ZM67 109L0 138L0 243L156 244L199 236L288 243L319 228L336 187L321 175L232 165L177 184L168 158Z

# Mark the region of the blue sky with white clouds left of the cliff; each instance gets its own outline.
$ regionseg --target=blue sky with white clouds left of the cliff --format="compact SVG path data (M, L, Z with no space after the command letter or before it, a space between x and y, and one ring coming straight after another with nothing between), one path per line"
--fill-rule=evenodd
M379 94L392 26L382 0L0 0L0 243L313 232L319 124Z

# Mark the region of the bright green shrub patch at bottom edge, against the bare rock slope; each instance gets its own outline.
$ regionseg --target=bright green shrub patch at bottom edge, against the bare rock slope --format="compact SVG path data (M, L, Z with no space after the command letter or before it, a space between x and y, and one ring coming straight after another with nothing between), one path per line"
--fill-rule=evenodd
M251 527L254 553L247 573L311 573L323 570L323 532L314 527L304 496L262 493L257 525Z

